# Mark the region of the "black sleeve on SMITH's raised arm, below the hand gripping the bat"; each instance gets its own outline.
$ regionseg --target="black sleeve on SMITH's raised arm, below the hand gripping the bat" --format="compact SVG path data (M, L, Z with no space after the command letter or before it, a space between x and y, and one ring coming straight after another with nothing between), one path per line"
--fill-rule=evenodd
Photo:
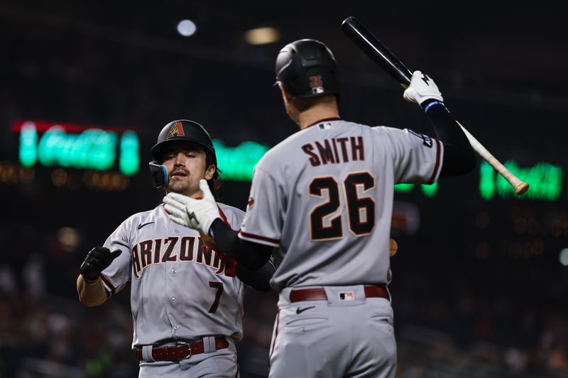
M469 140L444 104L427 100L420 104L432 124L436 138L444 143L441 176L459 176L473 170L476 157Z

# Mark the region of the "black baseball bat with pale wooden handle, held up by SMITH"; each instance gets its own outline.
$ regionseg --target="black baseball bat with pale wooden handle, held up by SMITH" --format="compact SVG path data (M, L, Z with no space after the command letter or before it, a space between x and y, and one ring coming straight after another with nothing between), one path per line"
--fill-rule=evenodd
M383 70L385 70L393 79L395 79L403 87L410 85L410 79L413 74L408 68L400 62L391 50L388 50L381 41L379 41L371 31L369 31L359 20L350 16L342 23L342 31L355 43L361 50L363 50L368 57L376 62ZM457 121L456 121L457 122ZM528 183L521 181L513 173L510 172L491 152L489 152L484 145L479 143L479 140L474 138L461 123L457 122L473 148L481 157L483 157L507 182L515 189L515 193L520 196L528 190Z

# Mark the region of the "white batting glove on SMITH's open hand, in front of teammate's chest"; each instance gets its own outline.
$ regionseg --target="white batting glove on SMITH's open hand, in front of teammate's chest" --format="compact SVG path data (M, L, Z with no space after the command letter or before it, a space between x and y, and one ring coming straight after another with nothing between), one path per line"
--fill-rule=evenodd
M214 196L209 190L207 180L200 180L200 189L203 192L203 199L195 199L178 193L168 193L163 202L165 203L165 211L168 211L172 221L209 235L209 228L211 228L213 221L221 218L221 215Z

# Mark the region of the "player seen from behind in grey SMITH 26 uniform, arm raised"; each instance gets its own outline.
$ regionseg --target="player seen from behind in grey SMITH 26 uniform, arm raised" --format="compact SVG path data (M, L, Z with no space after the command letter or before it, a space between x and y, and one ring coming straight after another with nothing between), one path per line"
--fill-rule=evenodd
M339 118L339 70L317 40L280 50L276 82L300 131L256 165L241 229L223 223L204 181L203 199L170 193L165 209L211 235L239 264L261 267L271 254L281 260L271 279L280 299L270 377L394 377L387 289L393 187L465 174L474 152L420 71L404 99L424 109L437 138Z

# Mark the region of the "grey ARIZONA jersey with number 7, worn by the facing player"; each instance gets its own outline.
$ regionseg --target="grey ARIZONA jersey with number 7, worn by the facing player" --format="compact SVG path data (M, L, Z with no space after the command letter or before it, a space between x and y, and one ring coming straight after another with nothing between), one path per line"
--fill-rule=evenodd
M244 212L218 205L238 230ZM163 205L126 219L104 247L122 250L101 277L111 294L131 282L133 348L204 335L242 338L244 284L227 277L199 233L171 221Z

